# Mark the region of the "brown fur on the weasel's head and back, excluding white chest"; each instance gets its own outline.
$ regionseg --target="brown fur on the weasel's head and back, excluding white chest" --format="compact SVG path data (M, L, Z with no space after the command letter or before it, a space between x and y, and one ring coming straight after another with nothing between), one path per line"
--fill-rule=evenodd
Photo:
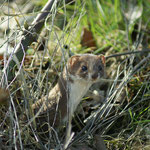
M88 70L83 71L82 66L86 66ZM98 68L99 66L101 67L100 70ZM67 107L68 101L70 100L70 91L67 87L67 83L75 83L78 77L84 80L81 82L89 82L89 73L92 74L92 81L90 82L94 83L99 74L101 77L104 75L104 58L102 56L89 54L75 55L68 60L67 70L68 73L66 73L66 69L64 69L58 83L49 92L49 95L33 104L32 108L35 114L43 107L43 109L40 110L39 116L36 118L38 126L45 125L47 129L48 125L53 127L63 125L63 120L67 116L67 112L69 109L72 109L68 109Z

